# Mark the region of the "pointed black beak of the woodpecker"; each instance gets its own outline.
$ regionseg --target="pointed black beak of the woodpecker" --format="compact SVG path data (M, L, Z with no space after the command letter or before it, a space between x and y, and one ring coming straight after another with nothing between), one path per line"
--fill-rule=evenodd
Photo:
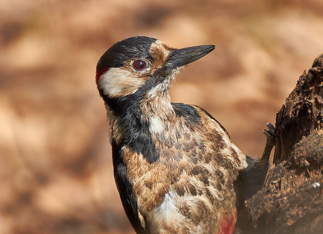
M214 48L214 45L207 45L175 49L169 54L167 64L172 69L185 66L197 59L202 58L204 55L207 55L214 50Z

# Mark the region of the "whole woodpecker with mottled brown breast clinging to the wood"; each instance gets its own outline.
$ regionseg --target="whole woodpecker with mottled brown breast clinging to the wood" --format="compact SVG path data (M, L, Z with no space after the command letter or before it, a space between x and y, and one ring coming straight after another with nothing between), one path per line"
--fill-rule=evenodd
M137 36L98 61L115 183L137 234L232 234L239 204L263 186L272 125L263 156L252 159L208 112L170 100L175 75L214 48L175 49Z

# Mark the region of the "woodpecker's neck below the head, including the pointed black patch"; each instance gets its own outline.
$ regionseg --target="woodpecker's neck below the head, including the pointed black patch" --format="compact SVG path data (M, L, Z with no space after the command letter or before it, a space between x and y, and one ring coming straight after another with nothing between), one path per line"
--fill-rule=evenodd
M126 98L104 99L111 127L111 137L121 147L142 154L149 163L159 160L160 154L153 142L153 135L164 129L163 122L174 115L170 98L142 99Z

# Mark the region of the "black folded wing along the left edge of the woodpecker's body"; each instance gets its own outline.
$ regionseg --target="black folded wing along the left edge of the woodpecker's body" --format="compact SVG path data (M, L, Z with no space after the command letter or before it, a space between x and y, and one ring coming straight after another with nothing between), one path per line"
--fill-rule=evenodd
M120 148L114 140L112 140L111 146L114 180L116 182L123 209L135 232L137 234L145 234L146 232L140 224L135 195L132 192L132 186L127 178L127 168L120 157Z

